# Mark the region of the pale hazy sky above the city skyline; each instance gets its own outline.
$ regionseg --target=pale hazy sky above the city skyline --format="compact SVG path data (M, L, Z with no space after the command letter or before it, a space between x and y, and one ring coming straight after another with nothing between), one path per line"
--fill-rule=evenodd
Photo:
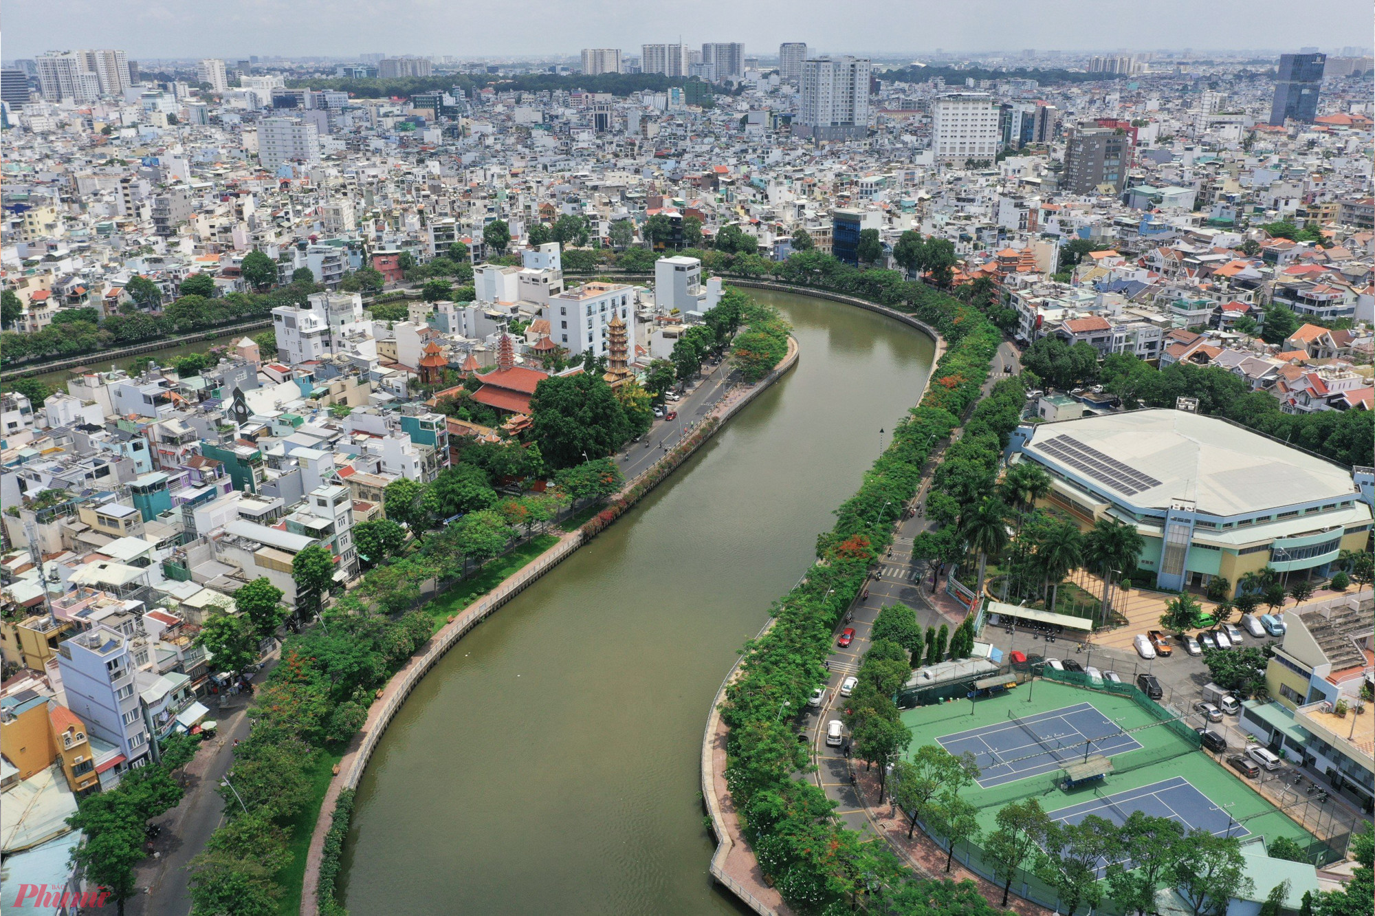
M1370 0L44 0L6 6L6 59L121 48L133 59L575 55L675 41L780 41L912 55L1370 45ZM679 32L681 36L679 36Z

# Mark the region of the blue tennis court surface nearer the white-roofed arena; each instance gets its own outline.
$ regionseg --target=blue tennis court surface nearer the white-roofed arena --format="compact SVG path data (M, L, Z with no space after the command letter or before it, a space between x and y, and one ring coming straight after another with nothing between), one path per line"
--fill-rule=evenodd
M1125 734L1092 703L956 732L936 741L956 756L974 754L979 765L978 781L983 788L1053 773L1066 763L1084 759L1086 747L1089 754L1103 756L1141 748L1134 737ZM1092 744L1085 745L1085 741Z

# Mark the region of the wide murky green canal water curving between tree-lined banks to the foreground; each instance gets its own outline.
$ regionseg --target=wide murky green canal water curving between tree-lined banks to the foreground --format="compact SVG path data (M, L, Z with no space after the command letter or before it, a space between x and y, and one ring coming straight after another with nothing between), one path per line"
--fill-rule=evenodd
M793 323L796 369L415 689L359 787L349 912L740 910L707 875L711 699L934 352L881 315L749 292Z

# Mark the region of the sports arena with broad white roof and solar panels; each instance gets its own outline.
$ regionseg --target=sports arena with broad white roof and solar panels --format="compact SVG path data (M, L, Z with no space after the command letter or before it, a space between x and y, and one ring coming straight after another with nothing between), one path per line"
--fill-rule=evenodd
M1235 590L1265 565L1326 576L1370 538L1368 497L1349 469L1226 419L1136 410L1027 424L1009 457L1045 468L1045 503L1085 530L1104 516L1134 524L1145 539L1137 568L1169 591L1213 576Z

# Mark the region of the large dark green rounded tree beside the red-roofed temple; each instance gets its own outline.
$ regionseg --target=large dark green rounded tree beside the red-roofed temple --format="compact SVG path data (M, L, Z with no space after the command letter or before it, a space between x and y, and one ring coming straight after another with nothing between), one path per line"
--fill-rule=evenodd
M605 458L630 437L626 410L598 373L544 378L529 406L531 435L550 468Z

